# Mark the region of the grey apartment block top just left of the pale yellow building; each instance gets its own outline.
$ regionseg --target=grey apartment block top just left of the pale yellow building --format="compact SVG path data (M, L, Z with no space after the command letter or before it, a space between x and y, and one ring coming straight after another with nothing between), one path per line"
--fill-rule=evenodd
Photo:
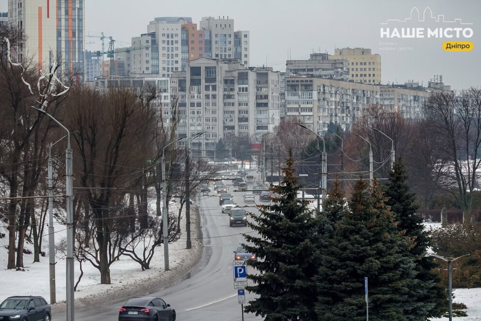
M306 60L288 60L286 75L348 80L349 62L342 58L330 59L326 53L312 53Z

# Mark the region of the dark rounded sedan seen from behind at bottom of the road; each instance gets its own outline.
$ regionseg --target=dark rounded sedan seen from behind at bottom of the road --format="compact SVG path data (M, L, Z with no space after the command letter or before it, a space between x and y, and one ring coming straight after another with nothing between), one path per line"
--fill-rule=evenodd
M154 296L130 298L119 309L119 321L175 321L175 318L171 305Z

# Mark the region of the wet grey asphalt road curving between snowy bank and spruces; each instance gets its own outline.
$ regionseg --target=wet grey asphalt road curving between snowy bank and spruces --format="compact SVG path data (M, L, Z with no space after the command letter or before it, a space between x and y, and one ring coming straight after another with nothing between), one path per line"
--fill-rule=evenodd
M250 186L250 185L249 185ZM229 186L229 191L235 187ZM217 193L211 184L211 195L201 196L201 225L204 252L196 267L180 280L167 288L155 289L151 293L163 298L177 313L177 320L234 321L242 320L241 305L237 301L237 290L233 288L233 251L244 241L239 233L251 232L245 226L229 226L229 215L222 214ZM235 192L234 201L238 206L245 204L244 192ZM256 201L258 196L256 195ZM249 208L247 210L256 211ZM249 271L251 273L252 271ZM252 293L246 292L251 300ZM114 321L118 318L119 307L125 299L117 302L89 307L76 308L75 318L79 321ZM54 315L53 320L65 320L65 315ZM244 314L245 321L262 320L252 314Z

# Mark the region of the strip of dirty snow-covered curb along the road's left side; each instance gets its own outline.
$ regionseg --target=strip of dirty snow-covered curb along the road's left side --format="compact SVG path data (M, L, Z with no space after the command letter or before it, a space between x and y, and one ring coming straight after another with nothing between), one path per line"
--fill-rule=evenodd
M139 295L142 292L149 290L165 288L169 283L181 278L184 274L189 273L199 263L203 253L202 243L202 229L201 229L201 217L199 208L197 205L191 205L191 224L196 225L195 235L192 235L192 248L186 252L184 257L176 267L169 271L159 271L158 274L151 275L145 279L139 279L135 283L128 284L125 287L118 287L116 289L107 289L104 292L92 294L84 298L76 299L76 307L92 306L102 303L111 303L113 301L119 301L123 298ZM192 259L194 257L194 259ZM145 282L146 280L151 282ZM151 284L156 284L154 287ZM61 313L66 310L66 302L62 301L51 305L52 313Z

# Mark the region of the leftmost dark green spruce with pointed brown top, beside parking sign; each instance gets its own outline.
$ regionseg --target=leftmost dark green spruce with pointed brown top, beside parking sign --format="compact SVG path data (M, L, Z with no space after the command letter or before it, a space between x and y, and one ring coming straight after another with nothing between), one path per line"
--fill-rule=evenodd
M254 285L246 289L257 294L249 301L246 312L262 316L266 321L314 321L316 289L313 276L317 271L313 244L315 219L308 209L308 201L297 199L298 178L289 153L283 181L274 186L279 197L272 205L258 206L259 214L252 214L249 226L259 236L245 234L247 251L260 260L252 262L256 274L248 274Z

